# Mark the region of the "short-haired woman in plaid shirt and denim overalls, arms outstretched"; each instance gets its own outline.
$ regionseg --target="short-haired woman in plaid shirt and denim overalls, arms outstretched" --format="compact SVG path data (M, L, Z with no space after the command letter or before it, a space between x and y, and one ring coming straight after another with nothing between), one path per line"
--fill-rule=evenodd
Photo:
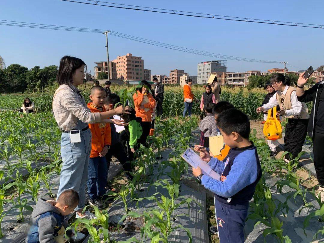
M88 179L88 162L91 152L91 132L88 123L113 122L121 125L121 121L110 120L109 117L128 113L128 107L122 106L105 112L91 113L77 88L84 83L84 70L87 65L79 58L64 56L61 58L56 81L60 85L55 91L52 110L55 120L62 130L61 155L63 166L57 198L67 189L78 192L80 201L75 208L76 218L91 219L94 214L82 210L86 203L85 186ZM71 132L73 131L73 132Z

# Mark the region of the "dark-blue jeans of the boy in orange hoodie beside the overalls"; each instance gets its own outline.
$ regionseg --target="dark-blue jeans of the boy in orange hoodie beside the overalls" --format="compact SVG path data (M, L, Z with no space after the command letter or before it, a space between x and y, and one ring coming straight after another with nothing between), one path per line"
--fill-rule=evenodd
M89 160L88 171L88 194L94 200L101 198L105 193L107 185L107 163L105 157L94 157Z

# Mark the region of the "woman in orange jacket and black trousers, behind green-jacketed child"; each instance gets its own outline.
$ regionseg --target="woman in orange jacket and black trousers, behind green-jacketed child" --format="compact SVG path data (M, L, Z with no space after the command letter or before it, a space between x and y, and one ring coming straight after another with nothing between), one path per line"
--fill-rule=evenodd
M146 146L146 138L150 134L152 112L156 106L156 100L149 93L150 85L143 80L140 85L142 87L136 89L136 93L133 95L136 116L142 118L141 126L143 133L138 143Z

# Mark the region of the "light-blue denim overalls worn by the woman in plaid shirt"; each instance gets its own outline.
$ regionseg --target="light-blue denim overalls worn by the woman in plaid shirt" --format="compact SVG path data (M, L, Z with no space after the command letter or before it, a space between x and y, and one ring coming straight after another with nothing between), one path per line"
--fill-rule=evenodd
M81 121L75 129L87 126ZM84 208L86 204L86 183L88 179L88 162L91 152L91 131L87 129L81 132L81 143L71 143L70 133L62 133L61 156L63 166L61 169L60 186L57 198L67 190L77 191L80 197L79 204L75 210Z

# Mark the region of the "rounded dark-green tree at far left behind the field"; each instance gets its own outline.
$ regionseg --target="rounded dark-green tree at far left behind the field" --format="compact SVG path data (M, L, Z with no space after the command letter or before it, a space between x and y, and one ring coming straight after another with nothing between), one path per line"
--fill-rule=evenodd
M27 87L26 75L28 68L19 64L11 64L5 70L6 90L22 92Z

